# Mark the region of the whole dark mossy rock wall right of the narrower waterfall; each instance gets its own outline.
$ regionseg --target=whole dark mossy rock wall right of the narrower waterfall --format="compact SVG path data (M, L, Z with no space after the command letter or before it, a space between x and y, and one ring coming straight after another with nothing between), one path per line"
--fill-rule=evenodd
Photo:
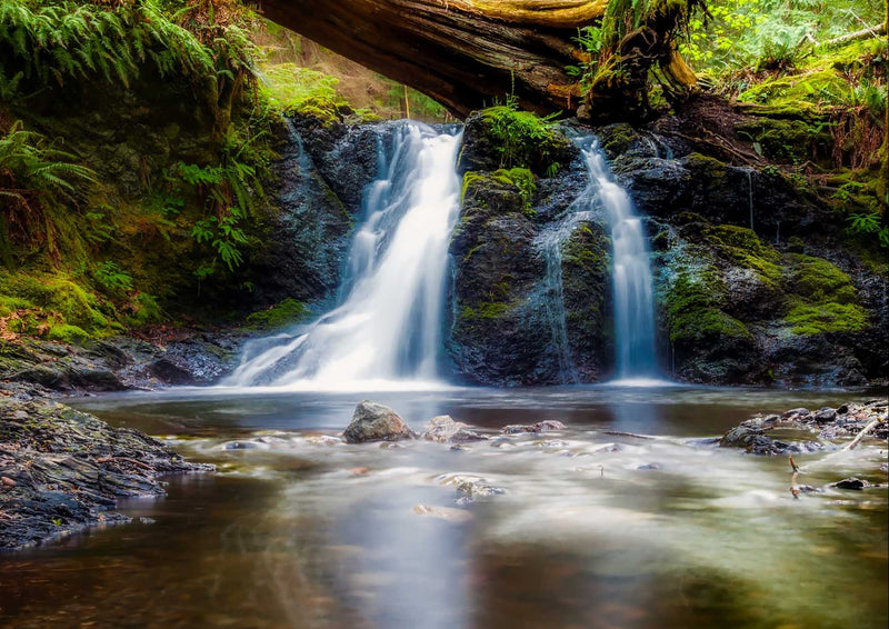
M650 219L673 377L845 386L886 373L886 268L852 252L841 217L773 167L730 166L628 126L599 133Z

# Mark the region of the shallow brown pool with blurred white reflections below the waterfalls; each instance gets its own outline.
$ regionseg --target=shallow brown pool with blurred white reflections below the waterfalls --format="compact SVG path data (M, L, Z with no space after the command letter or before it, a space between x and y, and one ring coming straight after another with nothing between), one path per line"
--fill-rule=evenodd
M495 439L330 440L362 398L414 430L448 413ZM702 440L758 411L862 399L588 387L72 400L219 472L126 501L132 525L0 556L0 623L882 628L886 487L795 499L786 459ZM496 436L543 419L566 430ZM796 458L800 483L886 482L885 446ZM461 503L457 487L479 479L502 492Z

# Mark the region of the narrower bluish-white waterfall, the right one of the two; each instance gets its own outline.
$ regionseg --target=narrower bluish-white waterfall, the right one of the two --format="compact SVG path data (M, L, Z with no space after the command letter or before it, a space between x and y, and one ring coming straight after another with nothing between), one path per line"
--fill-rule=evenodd
M619 380L657 377L655 294L645 228L629 194L608 171L596 138L581 141L589 186L611 230L615 345Z

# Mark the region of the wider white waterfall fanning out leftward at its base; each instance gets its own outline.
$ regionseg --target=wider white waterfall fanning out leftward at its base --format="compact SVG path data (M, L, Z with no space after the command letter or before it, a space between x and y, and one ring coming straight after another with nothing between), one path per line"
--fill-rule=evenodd
M437 378L460 141L413 122L396 129L388 156L380 140L339 306L299 333L248 348L224 385L379 388Z

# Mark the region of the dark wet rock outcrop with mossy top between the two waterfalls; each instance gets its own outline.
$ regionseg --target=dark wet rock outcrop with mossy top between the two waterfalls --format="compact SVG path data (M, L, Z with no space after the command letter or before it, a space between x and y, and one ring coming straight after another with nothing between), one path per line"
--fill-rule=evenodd
M587 182L579 151L547 127L505 147L498 122L476 114L463 134L455 370L485 385L599 380L611 362L608 244L602 218L572 206Z

